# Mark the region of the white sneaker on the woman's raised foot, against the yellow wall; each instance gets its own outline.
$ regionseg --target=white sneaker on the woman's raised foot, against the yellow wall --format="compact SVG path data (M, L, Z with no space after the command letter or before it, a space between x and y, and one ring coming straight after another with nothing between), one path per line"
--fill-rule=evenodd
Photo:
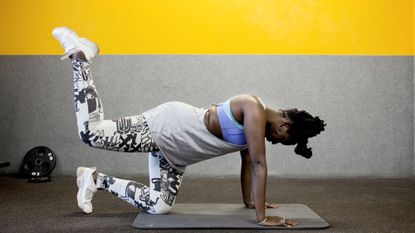
M65 49L65 56L61 60L68 58L71 54L82 51L86 59L92 62L92 59L99 53L99 48L94 42L86 38L80 38L74 31L67 27L53 29L52 35L59 41L62 48Z

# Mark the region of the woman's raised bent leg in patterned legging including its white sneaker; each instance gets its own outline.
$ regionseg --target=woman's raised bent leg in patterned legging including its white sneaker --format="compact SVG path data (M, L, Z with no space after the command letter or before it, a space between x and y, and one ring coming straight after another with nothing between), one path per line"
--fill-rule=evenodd
M142 115L104 120L104 110L91 76L91 62L98 55L95 43L80 38L66 27L55 28L53 36L72 59L74 102L79 136L89 146L123 152L158 150Z

